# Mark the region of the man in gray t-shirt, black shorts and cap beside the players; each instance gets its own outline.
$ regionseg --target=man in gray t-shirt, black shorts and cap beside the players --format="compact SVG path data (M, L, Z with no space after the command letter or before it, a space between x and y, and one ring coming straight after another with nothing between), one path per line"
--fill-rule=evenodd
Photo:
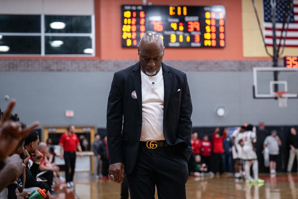
M270 174L276 174L276 161L277 156L279 154L279 146L282 145L282 142L280 141L277 131L273 130L271 131L271 135L267 136L264 140L263 147L268 147L269 149L269 159L270 159Z

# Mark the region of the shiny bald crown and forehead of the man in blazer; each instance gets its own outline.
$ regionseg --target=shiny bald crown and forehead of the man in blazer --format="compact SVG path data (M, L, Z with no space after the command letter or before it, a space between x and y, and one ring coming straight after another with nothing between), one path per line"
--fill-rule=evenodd
M139 44L140 49L148 45L158 48L160 51L164 49L164 42L161 36L155 32L147 32L142 36Z

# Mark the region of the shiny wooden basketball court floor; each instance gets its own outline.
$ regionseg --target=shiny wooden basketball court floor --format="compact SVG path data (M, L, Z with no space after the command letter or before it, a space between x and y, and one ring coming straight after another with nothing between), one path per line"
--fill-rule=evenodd
M233 177L194 178L186 184L187 199L284 199L298 198L298 174L261 174L263 185L234 182ZM120 199L120 185L110 180L98 180L89 173L75 174L75 187L55 187L57 199ZM157 198L157 194L156 194Z

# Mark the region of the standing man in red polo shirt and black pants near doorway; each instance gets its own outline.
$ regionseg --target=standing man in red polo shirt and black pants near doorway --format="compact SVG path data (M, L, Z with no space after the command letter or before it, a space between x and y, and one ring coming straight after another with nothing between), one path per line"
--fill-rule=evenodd
M75 152L78 149L80 151L80 156L82 157L82 148L79 142L78 136L75 134L75 126L71 125L67 127L67 132L62 134L60 137L60 158L65 160L65 178L66 186L73 187L73 179L75 174ZM62 155L62 147L64 150L64 155ZM71 172L69 172L69 168Z

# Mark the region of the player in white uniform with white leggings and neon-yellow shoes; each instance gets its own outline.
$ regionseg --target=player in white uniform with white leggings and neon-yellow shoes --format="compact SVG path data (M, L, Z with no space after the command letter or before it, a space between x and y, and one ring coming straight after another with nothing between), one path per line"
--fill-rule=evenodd
M246 183L264 183L259 179L259 168L257 154L255 153L255 142L257 141L255 127L248 125L243 132L242 139L239 143L242 146L242 159L245 161ZM254 173L254 179L251 178L251 165Z

